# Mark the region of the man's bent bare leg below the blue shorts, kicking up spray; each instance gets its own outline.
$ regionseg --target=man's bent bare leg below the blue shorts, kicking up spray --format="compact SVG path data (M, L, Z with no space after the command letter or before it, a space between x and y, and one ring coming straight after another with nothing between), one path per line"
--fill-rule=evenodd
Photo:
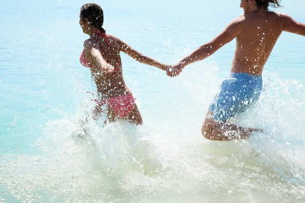
M261 129L245 128L228 123L217 122L213 113L208 111L202 125L202 135L212 141L230 141L236 139L248 139L252 132L262 132Z

